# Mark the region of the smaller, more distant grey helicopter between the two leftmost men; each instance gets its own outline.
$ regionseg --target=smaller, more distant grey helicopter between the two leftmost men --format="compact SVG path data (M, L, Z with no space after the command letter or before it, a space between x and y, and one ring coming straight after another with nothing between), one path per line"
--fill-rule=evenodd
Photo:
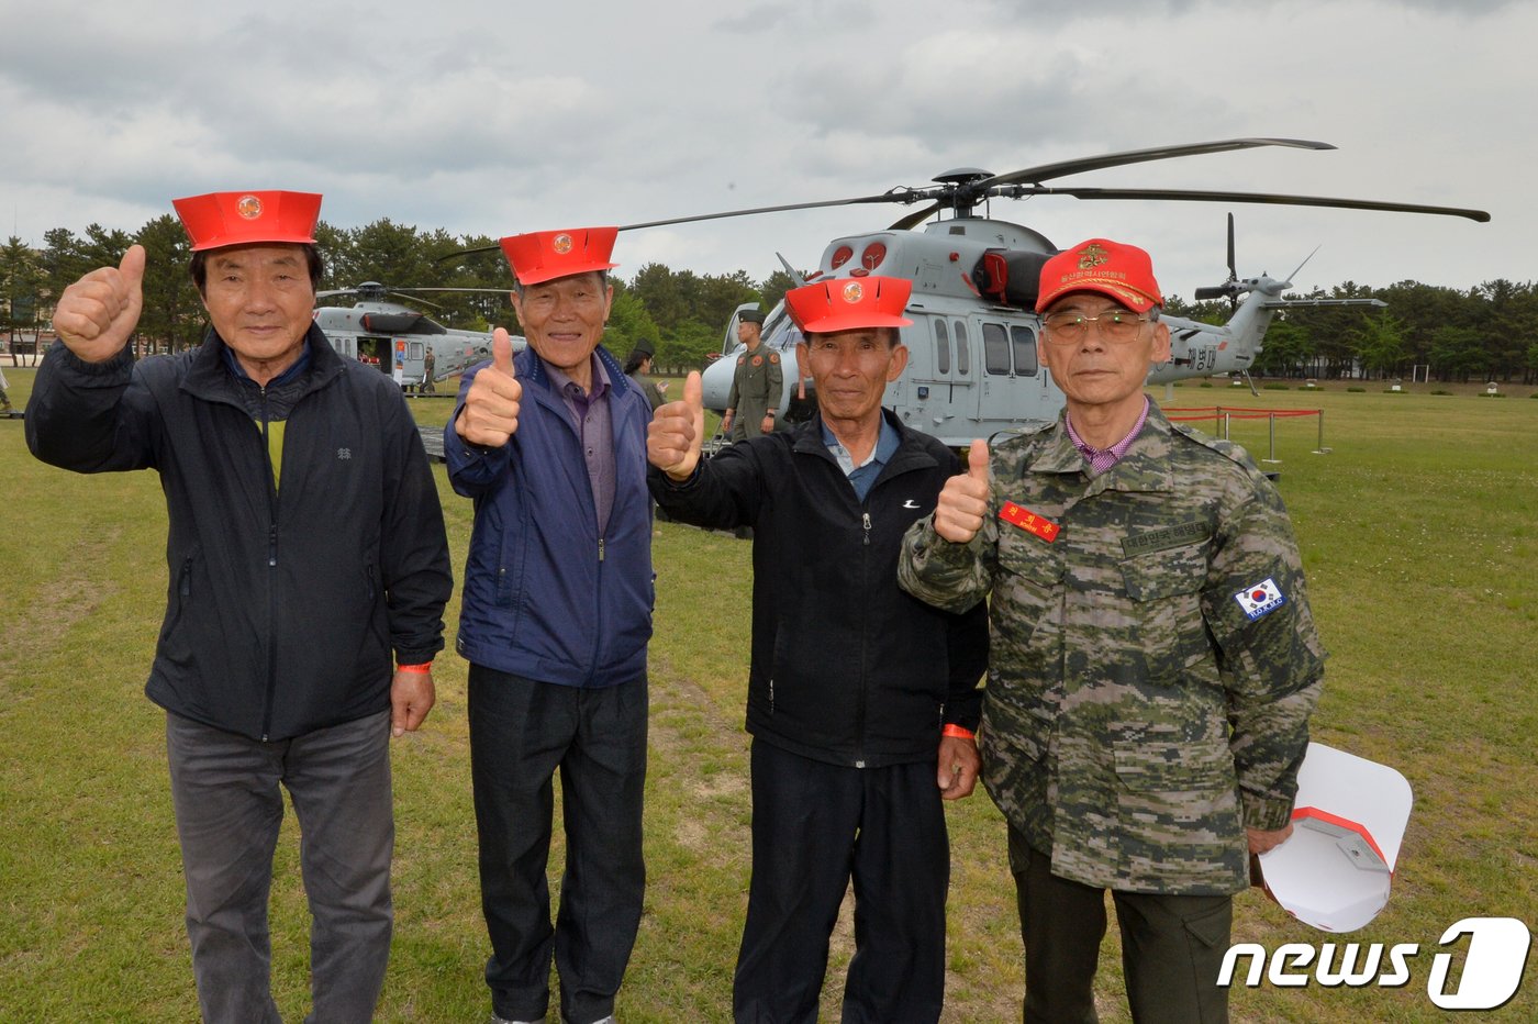
M415 292L466 291L506 295L504 291L489 288L389 289L378 281L363 281L355 288L315 292L317 300L354 295L358 301L354 306L317 306L314 318L331 347L343 358L378 366L380 372L389 374L403 389L417 387L421 391L428 387L426 355L429 351L434 358L432 378L438 381L464 371L466 366L489 360L491 332L444 327L417 309L388 300L394 297L432 306L434 303L415 295ZM521 349L524 340L514 337L512 346Z

